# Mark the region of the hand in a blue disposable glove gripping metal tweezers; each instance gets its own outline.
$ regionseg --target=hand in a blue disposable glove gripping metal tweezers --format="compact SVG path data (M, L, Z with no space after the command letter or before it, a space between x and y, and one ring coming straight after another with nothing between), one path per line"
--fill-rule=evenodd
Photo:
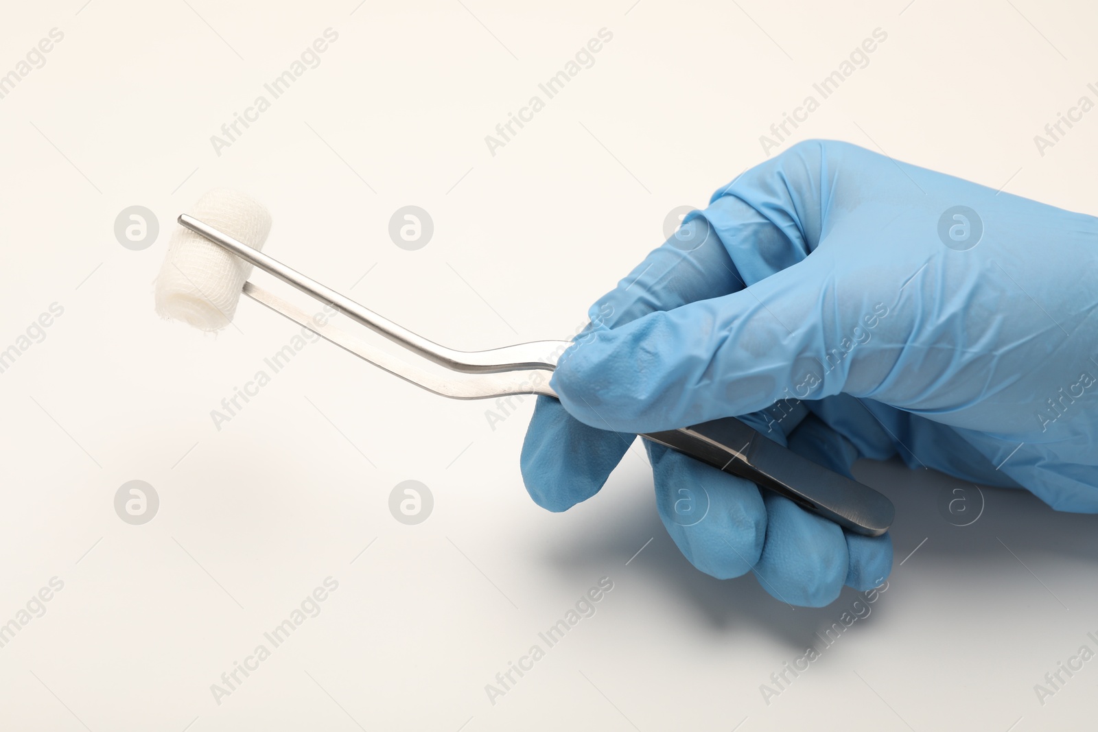
M964 206L964 209L957 209ZM591 308L523 447L561 511L639 432L739 416L850 475L859 458L1023 486L1098 511L1098 219L836 142L717 191ZM697 568L803 606L890 571L870 539L645 441L660 517ZM701 521L677 514L709 502ZM685 502L685 504L684 504Z

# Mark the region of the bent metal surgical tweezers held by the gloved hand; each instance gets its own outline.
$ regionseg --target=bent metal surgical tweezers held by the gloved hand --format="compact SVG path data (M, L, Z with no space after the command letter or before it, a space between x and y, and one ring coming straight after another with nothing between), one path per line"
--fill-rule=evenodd
M179 223L246 262L330 305L350 319L452 372L444 378L421 369L326 320L310 316L251 282L244 284L247 296L395 376L456 399L486 399L509 394L557 396L549 379L561 353L572 345L570 341L541 340L486 351L453 350L401 327L192 216L183 214L179 216ZM869 537L883 534L896 513L892 502L881 493L802 458L732 417L641 437L684 452L726 473L748 478L856 533Z

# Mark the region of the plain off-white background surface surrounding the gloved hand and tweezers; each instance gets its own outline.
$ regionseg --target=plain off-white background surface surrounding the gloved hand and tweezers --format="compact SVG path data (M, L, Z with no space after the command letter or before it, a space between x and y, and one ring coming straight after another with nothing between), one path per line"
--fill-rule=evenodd
M568 337L663 240L668 212L764 159L759 136L879 27L869 66L793 140L845 139L1098 212L1098 112L1044 156L1033 143L1094 98L1093 3L631 2L4 9L0 74L51 29L65 35L0 100L0 348L52 303L64 315L0 374L0 622L51 577L65 584L0 649L0 727L1089 723L1098 661L1044 706L1033 685L1098 650L1096 522L1028 494L984 489L983 515L959 528L939 499L973 486L860 464L897 506L888 589L768 706L760 685L822 645L856 595L794 610L753 577L697 573L637 455L573 510L538 509L518 472L533 399L493 430L490 404L313 344L213 426L210 410L296 331L250 301L215 338L153 313L173 219L216 185L270 207L273 256L428 337ZM327 27L339 36L320 66L217 156L210 136ZM493 157L484 136L602 27L614 36L594 66ZM113 234L135 204L161 228L143 251ZM418 251L386 233L406 204L435 223ZM144 526L113 509L135 478L160 497ZM418 526L388 508L405 480L434 494ZM217 705L210 685L327 576L339 587L323 611ZM614 590L596 615L490 703L484 685L603 576Z

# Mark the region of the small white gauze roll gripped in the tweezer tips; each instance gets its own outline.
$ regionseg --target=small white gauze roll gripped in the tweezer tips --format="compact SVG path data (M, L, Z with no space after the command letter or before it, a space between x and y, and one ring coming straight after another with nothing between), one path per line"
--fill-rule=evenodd
M237 191L214 189L188 212L253 249L271 230L270 212ZM177 226L156 279L156 312L202 330L228 325L251 264L183 226Z

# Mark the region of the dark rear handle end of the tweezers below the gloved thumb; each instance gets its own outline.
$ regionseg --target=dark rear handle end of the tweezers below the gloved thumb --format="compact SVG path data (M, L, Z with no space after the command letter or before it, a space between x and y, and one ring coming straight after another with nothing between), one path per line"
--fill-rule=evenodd
M641 437L746 477L855 533L879 537L896 516L883 494L802 458L732 417Z

